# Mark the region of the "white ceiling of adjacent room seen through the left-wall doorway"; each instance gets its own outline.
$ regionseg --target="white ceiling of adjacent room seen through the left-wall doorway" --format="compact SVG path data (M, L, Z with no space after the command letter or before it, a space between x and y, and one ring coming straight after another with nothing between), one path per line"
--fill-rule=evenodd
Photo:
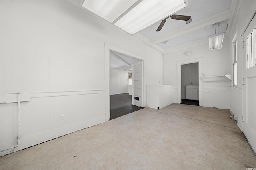
M141 61L141 59L118 53L116 51L110 51L110 69L130 70L132 68L131 65L139 61Z

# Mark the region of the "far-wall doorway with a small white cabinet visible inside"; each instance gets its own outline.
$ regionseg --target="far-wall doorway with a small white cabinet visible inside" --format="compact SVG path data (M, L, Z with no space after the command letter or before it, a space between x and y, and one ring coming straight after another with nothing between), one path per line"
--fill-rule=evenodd
M198 62L181 65L181 104L199 106Z

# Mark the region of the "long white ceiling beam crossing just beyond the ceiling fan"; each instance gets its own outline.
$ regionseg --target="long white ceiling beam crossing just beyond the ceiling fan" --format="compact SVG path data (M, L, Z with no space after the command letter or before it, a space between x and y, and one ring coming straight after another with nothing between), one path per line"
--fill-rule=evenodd
M224 12L221 12L219 14L216 14L216 15L206 18L204 20L201 20L201 21L198 21L195 23L191 23L183 28L180 28L178 30L164 34L163 36L153 38L153 39L149 40L149 42L150 42L150 44L156 44L156 43L160 43L164 40L169 40L171 38L181 36L183 34L186 34L186 33L198 30L200 28L204 28L206 26L215 24L217 22L229 19L229 18L231 18L231 14L232 14L232 10L226 10Z

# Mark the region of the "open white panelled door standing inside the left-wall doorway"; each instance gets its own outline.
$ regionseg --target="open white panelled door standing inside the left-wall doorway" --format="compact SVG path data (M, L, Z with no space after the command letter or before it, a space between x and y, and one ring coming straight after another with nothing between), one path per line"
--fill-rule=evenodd
M143 61L132 64L132 105L143 107Z

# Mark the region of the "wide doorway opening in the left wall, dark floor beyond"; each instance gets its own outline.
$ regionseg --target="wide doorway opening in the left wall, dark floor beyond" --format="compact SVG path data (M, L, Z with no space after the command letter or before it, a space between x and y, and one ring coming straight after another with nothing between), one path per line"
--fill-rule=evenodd
M142 95L134 97L136 91L133 90L134 85L143 84L141 83L143 78L138 78L138 71L134 72L138 63L142 63L138 58L110 50L110 119L115 119L143 108L140 105L136 105L138 100L135 100L135 102L133 100L133 98L142 97ZM142 70L142 67L140 69ZM140 75L142 76L143 74ZM138 80L140 83L137 82ZM136 90L138 88L140 87L136 87ZM140 98L140 101L142 101L142 98Z

